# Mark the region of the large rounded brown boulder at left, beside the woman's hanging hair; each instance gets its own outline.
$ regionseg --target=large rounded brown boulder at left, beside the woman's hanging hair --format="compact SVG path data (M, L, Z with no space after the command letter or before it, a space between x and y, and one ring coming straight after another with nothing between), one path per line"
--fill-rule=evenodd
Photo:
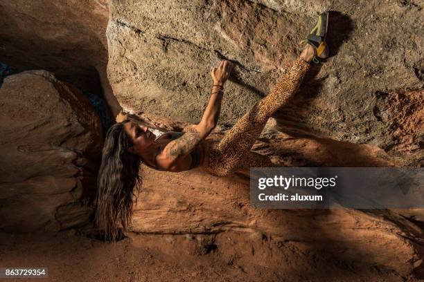
M7 77L0 97L0 230L86 224L103 144L94 108L46 71Z

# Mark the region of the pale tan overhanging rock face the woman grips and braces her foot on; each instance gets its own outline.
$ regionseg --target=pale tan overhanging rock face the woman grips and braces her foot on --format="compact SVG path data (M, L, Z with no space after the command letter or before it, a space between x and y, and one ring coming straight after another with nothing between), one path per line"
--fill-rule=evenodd
M326 8L335 11L328 38L333 57L310 72L276 115L278 124L288 133L392 153L401 141L376 107L380 93L423 88L424 10L418 2L112 1L109 81L127 111L195 123L209 97L211 67L231 59L236 68L220 119L230 126L290 67L299 41ZM404 164L421 157L411 152Z

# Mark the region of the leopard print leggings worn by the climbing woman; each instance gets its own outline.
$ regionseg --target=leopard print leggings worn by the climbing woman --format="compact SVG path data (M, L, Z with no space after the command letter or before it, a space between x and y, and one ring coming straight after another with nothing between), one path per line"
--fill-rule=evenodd
M227 176L234 171L249 167L272 167L266 156L251 152L263 127L276 111L297 91L310 64L298 58L290 71L258 101L250 111L238 120L219 142L210 141L209 164L206 171L215 176Z

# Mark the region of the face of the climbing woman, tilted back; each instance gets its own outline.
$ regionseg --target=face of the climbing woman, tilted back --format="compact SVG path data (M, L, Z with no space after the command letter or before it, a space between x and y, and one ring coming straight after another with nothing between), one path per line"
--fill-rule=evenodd
M148 149L156 140L156 135L149 131L148 126L141 126L135 122L125 122L124 130L132 142L132 153L141 153Z

